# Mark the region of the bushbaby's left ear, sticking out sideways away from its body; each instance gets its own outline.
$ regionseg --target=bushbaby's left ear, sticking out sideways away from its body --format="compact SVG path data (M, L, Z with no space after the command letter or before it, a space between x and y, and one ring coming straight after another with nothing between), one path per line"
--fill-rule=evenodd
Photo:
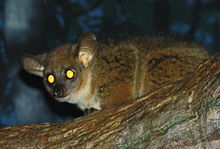
M27 72L43 77L44 64L43 60L46 57L46 53L38 56L23 54L20 56L20 63L24 70Z

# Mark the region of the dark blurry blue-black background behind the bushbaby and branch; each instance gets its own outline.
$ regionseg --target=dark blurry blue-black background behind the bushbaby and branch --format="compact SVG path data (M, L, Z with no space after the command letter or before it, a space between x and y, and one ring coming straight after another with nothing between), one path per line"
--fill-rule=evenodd
M21 53L39 54L74 42L84 31L97 37L169 35L220 48L219 0L1 0L0 126L56 122L82 113L46 93L42 80L21 70Z

